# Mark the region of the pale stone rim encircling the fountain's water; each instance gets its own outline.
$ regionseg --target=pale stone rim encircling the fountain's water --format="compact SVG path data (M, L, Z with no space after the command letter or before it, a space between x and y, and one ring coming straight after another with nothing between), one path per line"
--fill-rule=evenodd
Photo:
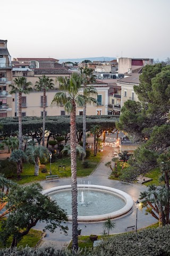
M123 215L126 215L131 212L133 208L133 199L132 197L125 193L122 190L116 189L116 188L111 188L111 187L106 187L106 186L99 186L99 185L78 185L78 188L96 188L99 190L105 190L112 192L113 194L121 197L124 199L126 202L125 206L122 207L120 210L111 212L111 213L106 213L106 214L101 214L101 215L91 215L91 216L79 216L78 215L78 222L98 222L98 221L104 221L107 218L115 219L115 218L121 218ZM58 186L58 187L53 187L53 188L48 188L42 191L43 195L48 195L49 193L52 193L57 190L63 190L63 189L71 189L71 185L65 185L65 186ZM68 215L68 220L72 221L72 215Z

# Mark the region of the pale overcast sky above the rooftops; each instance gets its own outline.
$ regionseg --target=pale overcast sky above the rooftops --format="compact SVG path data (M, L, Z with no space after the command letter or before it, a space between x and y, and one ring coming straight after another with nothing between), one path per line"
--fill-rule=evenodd
M170 57L169 0L1 0L12 58Z

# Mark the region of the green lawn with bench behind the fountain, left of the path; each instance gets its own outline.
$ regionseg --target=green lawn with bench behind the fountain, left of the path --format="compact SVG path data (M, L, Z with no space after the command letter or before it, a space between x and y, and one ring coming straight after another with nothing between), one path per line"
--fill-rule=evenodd
M87 161L89 162L89 167L84 168L82 166L82 161L79 160L79 157L77 157L77 176L78 177L86 177L91 174L92 171L96 168L96 166L100 163L101 159L104 157L106 152L98 152L97 156L93 156L91 153L91 156L88 157ZM65 165L65 170L63 167L60 167L60 170L58 171L58 165ZM71 159L70 157L63 156L62 159L57 159L56 162L52 163L52 174L58 175L60 178L65 177L71 177ZM34 164L24 163L23 164L23 173L21 173L21 180L16 180L16 177L12 180L14 182L17 182L20 185L23 185L25 183L29 182L36 182L40 180L45 180L46 175L49 175L48 173L41 173L41 169L39 170L39 176L33 175L34 173ZM50 170L50 163L46 164L46 169L49 172Z

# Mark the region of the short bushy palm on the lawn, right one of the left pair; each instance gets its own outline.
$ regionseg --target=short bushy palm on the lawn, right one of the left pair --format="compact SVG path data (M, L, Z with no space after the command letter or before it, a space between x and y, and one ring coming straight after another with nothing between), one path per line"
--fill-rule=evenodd
M28 146L26 150L26 154L31 162L35 163L35 172L34 175L39 175L39 165L40 161L47 161L49 157L49 151L47 148L43 146Z

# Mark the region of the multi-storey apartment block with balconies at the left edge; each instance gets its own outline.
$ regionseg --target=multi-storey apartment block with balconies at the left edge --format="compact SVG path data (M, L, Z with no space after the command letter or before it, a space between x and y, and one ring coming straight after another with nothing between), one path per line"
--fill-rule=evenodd
M12 82L11 70L7 40L0 39L0 117L12 116L12 96L8 93L8 85Z

